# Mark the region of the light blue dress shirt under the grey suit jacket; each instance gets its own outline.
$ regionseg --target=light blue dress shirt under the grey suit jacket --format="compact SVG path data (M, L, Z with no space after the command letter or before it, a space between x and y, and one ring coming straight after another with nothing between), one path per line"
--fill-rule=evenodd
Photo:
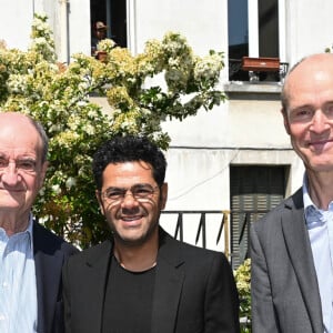
M327 211L319 209L309 195L306 176L303 181L303 201L322 302L324 332L333 333L333 202Z

